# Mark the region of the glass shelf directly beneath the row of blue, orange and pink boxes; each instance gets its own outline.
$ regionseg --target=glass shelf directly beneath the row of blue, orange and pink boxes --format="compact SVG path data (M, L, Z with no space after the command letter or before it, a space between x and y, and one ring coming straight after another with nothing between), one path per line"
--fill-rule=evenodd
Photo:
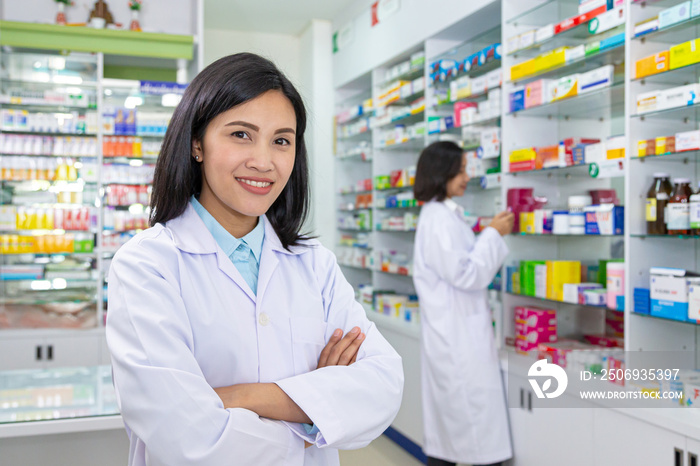
M625 86L616 83L597 91L578 94L568 99L508 113L510 116L549 118L611 118L622 115L625 106Z

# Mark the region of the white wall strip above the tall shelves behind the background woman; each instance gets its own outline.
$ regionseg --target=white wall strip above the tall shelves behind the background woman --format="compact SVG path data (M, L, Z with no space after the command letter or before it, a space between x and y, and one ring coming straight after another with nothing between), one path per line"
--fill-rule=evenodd
M371 26L374 0L357 0L333 21L333 32L354 23L354 39L333 55L334 87L340 87L413 48L496 0L400 0L398 12Z

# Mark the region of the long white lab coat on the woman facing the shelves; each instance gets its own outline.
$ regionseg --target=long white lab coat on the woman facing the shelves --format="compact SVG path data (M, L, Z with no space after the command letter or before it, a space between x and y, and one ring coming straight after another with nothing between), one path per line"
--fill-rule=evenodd
M493 228L477 239L446 202L423 206L414 251L423 451L458 463L496 463L512 449L487 287L508 248Z

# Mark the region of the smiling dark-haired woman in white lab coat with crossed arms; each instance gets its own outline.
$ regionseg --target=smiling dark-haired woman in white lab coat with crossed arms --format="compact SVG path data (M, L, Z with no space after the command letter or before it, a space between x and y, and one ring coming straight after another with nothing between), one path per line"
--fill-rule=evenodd
M209 65L175 109L152 228L109 272L130 465L337 465L396 415L400 357L300 234L305 127L294 86L253 54Z

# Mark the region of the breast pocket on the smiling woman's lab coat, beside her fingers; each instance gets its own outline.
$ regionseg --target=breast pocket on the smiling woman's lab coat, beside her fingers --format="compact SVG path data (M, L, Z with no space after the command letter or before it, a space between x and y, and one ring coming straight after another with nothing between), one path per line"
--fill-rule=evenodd
M326 345L328 323L309 317L290 317L294 373L305 374L318 366L318 357Z

